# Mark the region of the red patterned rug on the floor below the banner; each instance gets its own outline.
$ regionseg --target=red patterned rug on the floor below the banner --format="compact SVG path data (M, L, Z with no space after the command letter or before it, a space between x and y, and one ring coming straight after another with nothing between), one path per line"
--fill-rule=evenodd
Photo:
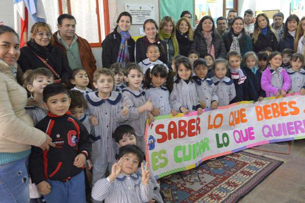
M248 152L208 160L190 175L172 174L161 179L164 202L237 202L283 162Z

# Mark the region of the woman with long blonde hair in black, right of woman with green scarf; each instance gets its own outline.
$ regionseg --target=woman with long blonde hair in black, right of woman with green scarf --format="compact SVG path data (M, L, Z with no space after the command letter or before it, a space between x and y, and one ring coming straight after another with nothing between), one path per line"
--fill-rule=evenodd
M176 38L179 44L180 55L188 57L190 44L193 41L194 32L188 18L180 18L176 24Z

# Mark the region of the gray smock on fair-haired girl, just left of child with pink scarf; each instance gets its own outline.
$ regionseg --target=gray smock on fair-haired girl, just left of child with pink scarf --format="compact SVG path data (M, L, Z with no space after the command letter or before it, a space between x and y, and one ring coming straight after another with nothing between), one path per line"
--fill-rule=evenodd
M219 79L214 76L211 78L211 80L216 86L216 94L219 99L218 106L222 107L229 105L230 101L236 96L236 90L233 80L226 76L222 79Z

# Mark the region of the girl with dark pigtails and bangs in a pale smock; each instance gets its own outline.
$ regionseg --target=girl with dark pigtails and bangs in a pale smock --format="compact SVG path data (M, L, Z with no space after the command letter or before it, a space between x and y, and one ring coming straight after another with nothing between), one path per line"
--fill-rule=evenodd
M168 73L164 65L157 64L153 69L149 69L145 74L144 92L145 98L151 99L154 105L151 114L154 116L178 114L175 110L171 110L169 104L169 94L172 91L172 73Z

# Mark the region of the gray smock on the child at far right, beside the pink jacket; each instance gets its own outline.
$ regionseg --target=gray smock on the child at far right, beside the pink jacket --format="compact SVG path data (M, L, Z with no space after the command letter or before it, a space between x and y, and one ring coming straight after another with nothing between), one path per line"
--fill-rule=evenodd
M293 71L292 68L287 70L287 73L291 79L291 88L290 90L294 92L301 91L302 88L305 88L305 70L301 68L300 71Z

